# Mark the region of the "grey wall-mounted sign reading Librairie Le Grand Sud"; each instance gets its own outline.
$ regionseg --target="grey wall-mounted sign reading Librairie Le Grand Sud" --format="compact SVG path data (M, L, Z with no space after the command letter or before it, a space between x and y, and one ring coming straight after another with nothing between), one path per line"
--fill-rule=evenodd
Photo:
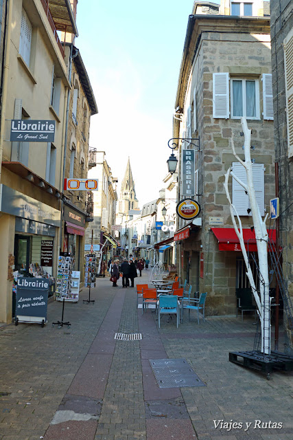
M55 124L52 120L13 119L10 140L12 142L54 142Z

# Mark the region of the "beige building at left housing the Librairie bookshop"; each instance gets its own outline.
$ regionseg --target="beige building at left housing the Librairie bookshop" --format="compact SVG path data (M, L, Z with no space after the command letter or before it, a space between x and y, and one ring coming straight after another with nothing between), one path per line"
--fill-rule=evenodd
M14 314L15 274L56 277L66 103L71 88L65 45L57 31L67 28L69 34L78 34L70 4L60 3L61 14L60 8L47 8L45 2L6 2L0 133L1 322L11 322ZM55 125L55 135L49 142L47 133L40 133L44 136L37 137L40 142L33 142L35 134L30 142L27 137L10 141L11 120L21 121L23 127L29 120L46 120L47 130ZM46 264L42 263L43 242L51 247Z

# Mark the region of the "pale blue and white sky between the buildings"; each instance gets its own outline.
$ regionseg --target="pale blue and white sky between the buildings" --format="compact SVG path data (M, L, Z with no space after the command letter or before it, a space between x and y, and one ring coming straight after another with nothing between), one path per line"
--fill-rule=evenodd
M172 118L194 0L79 0L75 46L99 113L90 146L120 184L128 156L139 207L159 197L172 153Z

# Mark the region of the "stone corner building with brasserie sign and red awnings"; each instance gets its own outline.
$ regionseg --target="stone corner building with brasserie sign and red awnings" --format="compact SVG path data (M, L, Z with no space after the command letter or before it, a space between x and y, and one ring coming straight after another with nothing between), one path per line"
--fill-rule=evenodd
M183 149L195 151L195 199L201 219L179 220L177 232L182 234L176 247L181 278L187 278L194 291L208 292L207 312L213 315L235 314L235 289L248 287L223 186L228 167L245 178L230 146L233 133L236 152L244 158L242 115L252 129L254 181L262 216L274 197L270 58L270 17L264 16L263 1L194 3L178 79L174 137L193 139L179 145L178 158ZM179 164L178 200L185 197L181 170ZM237 185L230 182L230 191L252 257L253 220L248 197Z

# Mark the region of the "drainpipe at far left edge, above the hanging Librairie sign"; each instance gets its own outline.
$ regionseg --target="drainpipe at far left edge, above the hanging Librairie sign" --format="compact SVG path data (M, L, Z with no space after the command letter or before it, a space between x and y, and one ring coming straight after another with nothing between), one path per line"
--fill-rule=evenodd
M1 133L0 133L0 182L1 182L1 164L3 157L3 143L4 143L4 124L6 101L8 95L8 78L9 78L9 61L10 61L10 41L11 41L11 26L12 26L12 8L13 0L6 0L6 22L3 45L5 46L5 53L3 58L3 77L2 77L2 96L1 96ZM8 10L8 12L7 12ZM6 44L5 44L6 43Z

